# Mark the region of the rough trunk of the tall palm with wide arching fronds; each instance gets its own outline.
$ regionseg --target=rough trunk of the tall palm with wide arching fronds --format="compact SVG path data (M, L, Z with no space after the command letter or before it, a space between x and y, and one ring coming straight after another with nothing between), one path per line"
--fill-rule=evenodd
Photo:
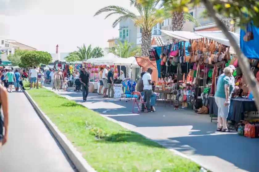
M141 50L142 50L142 56L148 56L148 51L151 48L151 35L152 30L149 29L142 29L142 36L141 36Z

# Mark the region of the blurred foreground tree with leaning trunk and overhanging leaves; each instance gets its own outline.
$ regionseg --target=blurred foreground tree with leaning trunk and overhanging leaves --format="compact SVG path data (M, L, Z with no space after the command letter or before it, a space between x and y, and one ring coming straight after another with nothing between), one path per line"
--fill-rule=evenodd
M142 6L148 6L149 1L151 2L152 0L139 0L138 2ZM246 83L248 84L250 90L253 92L257 109L259 109L259 86L251 71L247 57L242 53L235 39L228 32L229 29L218 17L223 15L226 18L232 18L233 21L238 20L238 25L245 30L246 26L252 22L254 26L259 27L259 2L257 0L163 0L163 3L166 8L176 12L186 11L190 6L199 6L201 3L204 4L206 7L204 14L207 14L209 17L212 17L215 20L217 26L220 28L220 30L222 30L234 48L238 57L238 64L244 73Z

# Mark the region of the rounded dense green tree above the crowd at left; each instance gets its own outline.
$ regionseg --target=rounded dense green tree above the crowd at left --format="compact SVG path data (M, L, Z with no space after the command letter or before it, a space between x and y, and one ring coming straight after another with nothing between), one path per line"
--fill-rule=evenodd
M30 65L39 66L49 64L52 60L51 54L44 51L29 51L21 56L19 67L28 68Z

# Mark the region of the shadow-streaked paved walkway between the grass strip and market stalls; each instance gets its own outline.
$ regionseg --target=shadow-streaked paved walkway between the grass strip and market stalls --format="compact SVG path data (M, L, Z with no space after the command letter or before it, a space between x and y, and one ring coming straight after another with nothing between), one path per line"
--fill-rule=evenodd
M82 101L82 92L55 92ZM214 172L258 172L259 139L216 133L216 121L210 122L209 115L197 115L193 110L176 111L161 103L154 113L136 115L132 114L132 101L104 99L96 93L90 93L87 102L80 104L180 151Z

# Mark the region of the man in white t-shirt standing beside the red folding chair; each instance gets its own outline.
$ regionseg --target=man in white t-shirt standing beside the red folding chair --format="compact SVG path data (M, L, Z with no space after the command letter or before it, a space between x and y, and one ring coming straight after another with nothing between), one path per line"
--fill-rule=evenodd
M152 83L151 83L151 74L152 74L153 70L151 68L148 68L147 73L143 75L142 77L142 81L143 81L143 93L144 93L144 102L146 102L146 108L148 112L151 112L151 103L152 103L152 111L153 110L153 106L155 103L155 98L156 95L153 94L152 92ZM151 103L150 103L150 99L151 99ZM145 111L145 107L144 104L142 104L142 112Z

